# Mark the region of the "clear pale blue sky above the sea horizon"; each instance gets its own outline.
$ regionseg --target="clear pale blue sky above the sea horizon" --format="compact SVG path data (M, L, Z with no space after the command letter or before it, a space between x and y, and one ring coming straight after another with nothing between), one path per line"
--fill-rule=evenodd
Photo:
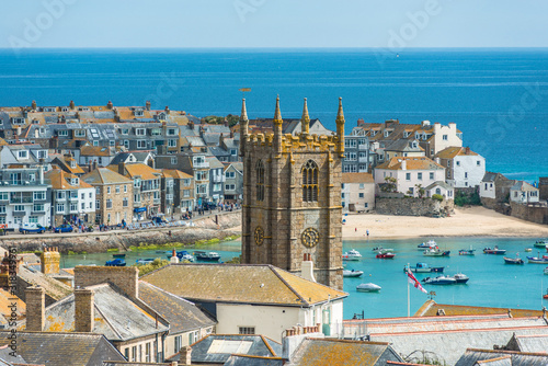
M2 48L548 47L543 0L20 0L0 7ZM411 14L423 16L413 23Z

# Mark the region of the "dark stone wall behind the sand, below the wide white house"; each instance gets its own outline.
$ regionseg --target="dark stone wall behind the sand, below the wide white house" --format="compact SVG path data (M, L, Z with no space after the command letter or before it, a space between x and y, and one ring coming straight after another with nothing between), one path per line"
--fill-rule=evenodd
M447 207L447 208L446 208ZM397 216L436 216L453 211L453 201L436 201L432 198L383 198L375 201L375 210L380 215Z

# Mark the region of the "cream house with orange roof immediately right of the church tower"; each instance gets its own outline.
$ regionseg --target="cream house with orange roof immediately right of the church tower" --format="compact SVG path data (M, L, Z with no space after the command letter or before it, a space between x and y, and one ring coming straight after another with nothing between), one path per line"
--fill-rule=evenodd
M367 213L375 208L375 181L369 173L342 173L343 211Z

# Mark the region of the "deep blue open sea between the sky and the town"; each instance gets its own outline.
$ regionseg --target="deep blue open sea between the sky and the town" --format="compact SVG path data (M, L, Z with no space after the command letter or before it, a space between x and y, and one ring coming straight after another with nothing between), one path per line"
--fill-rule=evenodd
M490 171L535 181L548 174L547 49L62 49L0 50L0 105L144 105L198 117L282 115L346 130L397 118L457 123Z

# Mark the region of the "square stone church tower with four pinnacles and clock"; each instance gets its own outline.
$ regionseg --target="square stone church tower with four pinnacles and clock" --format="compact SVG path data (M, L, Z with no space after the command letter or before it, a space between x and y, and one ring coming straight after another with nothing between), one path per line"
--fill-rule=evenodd
M274 133L250 135L242 101L242 263L267 263L299 273L304 254L311 254L316 279L342 289L342 99L336 135L309 134L306 99L301 134L283 135L282 124L277 98Z

